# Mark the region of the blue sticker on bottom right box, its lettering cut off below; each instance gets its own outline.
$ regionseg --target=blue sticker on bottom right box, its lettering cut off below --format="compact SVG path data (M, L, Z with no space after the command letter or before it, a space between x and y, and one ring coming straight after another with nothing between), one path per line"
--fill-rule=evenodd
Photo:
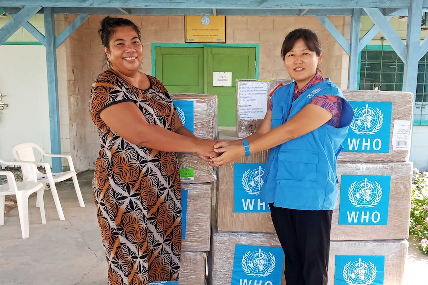
M336 255L335 285L383 285L385 256Z

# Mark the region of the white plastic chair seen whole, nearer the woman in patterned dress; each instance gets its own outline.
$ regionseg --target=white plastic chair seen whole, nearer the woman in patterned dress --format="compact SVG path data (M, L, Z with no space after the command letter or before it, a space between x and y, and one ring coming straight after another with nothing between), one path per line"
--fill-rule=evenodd
M34 148L37 149L42 155L47 157L66 158L69 163L70 171L52 173L51 167L47 162L35 161ZM72 178L80 207L85 207L85 202L83 201L79 182L77 180L77 172L74 169L74 164L70 155L46 153L39 145L34 143L17 144L12 147L12 154L15 157L15 159L18 161L33 163L31 167L28 167L28 166L22 167L22 174L24 176L32 175L33 170L35 170L37 181L42 182L44 184L49 184L52 192L52 197L54 198L55 207L57 208L58 217L60 218L60 220L64 220L65 218L64 218L63 209L61 208L60 199L58 197L57 188L55 187L55 182L61 182L69 178ZM36 166L42 166L45 169L46 174L41 173Z

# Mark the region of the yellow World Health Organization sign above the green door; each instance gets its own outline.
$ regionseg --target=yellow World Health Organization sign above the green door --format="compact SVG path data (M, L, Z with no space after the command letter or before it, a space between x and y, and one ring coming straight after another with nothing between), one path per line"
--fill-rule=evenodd
M186 43L225 43L226 16L185 16Z

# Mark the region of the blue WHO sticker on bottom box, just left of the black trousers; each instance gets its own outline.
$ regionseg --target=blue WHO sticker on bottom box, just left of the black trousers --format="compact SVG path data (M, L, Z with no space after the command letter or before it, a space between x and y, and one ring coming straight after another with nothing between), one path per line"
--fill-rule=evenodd
M280 284L283 265L281 247L236 244L231 285Z

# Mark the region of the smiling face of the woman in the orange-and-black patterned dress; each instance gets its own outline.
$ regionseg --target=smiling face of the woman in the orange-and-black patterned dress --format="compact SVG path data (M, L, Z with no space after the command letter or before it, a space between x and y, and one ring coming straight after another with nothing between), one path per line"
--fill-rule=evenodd
M117 27L104 51L116 73L132 76L143 60L143 46L137 32L130 26Z

